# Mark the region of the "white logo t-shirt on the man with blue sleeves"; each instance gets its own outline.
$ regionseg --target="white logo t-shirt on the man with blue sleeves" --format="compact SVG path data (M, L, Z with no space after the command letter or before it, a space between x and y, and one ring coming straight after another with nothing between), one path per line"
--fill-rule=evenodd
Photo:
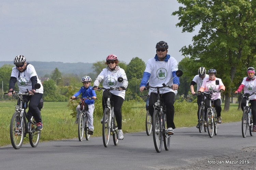
M178 70L178 63L175 58L170 57L169 60L166 61L156 61L155 58L151 58L147 61L147 66L145 72L150 73L149 85L153 87L160 87L163 83L167 85L173 85L173 81L171 80L172 71ZM171 80L171 81L170 81ZM170 81L170 82L169 82ZM177 94L177 90L172 90L170 88L160 88L160 94L165 94L167 92L174 92ZM150 88L149 93L155 92L156 89Z

